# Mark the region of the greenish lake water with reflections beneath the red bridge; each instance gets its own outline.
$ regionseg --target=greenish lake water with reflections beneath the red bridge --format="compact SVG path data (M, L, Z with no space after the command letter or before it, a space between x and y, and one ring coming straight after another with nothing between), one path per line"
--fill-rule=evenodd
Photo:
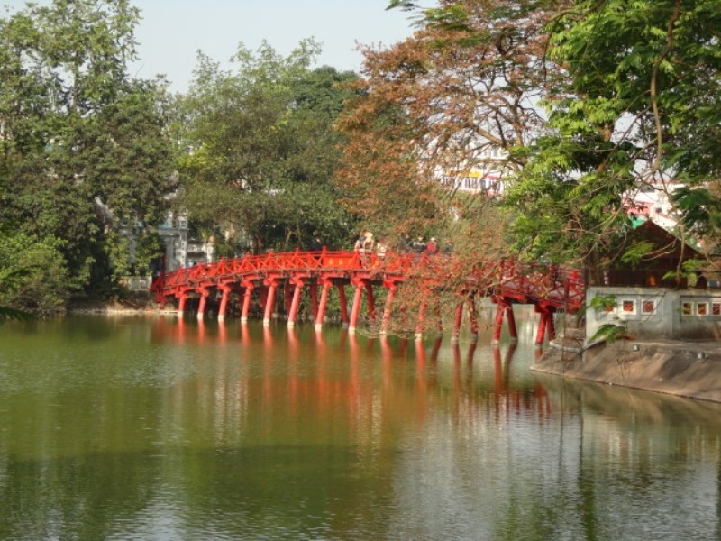
M0 325L0 539L718 539L721 406L520 342Z

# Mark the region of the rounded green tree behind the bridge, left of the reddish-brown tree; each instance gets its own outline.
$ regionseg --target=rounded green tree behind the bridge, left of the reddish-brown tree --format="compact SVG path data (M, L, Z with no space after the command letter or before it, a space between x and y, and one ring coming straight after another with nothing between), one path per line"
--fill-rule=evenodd
M184 104L189 151L179 201L196 224L247 234L254 252L347 236L350 219L333 191L341 142L333 121L349 96L338 84L355 76L310 69L318 51L302 41L284 59L268 43L257 54L241 45L236 73L199 57Z

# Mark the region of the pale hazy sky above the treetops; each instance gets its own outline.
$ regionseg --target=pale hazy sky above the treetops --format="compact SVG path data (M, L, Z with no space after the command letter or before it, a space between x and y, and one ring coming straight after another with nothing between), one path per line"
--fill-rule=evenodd
M36 0L46 5L50 0ZM24 0L0 0L12 11ZM141 59L132 77L165 75L170 89L185 92L196 67L196 52L230 68L242 43L257 50L262 40L287 56L306 38L323 47L317 65L360 71L358 44L388 47L412 32L409 14L386 11L388 0L135 0L142 21L135 30Z

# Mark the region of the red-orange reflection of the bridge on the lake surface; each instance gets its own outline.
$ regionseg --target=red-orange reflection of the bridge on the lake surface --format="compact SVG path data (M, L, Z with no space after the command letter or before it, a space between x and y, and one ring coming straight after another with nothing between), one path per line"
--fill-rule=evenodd
M477 341L454 342L443 352L447 355L450 350L449 359L441 354L441 336L428 342L397 336L358 336L342 329L337 335L331 333L328 340L328 334L320 329L308 333L288 327L285 334L272 326L259 330L252 325L226 326L224 321L208 325L204 319L190 323L183 318L176 322L160 318L155 321L152 333L156 341L197 346L241 345L252 352L250 356L243 355L245 362L254 367L252 370L232 370L230 365L235 367L237 358L219 348L216 351L221 353L216 362L224 366L214 376L178 382L181 387L204 386L202 390L181 393L187 399L197 400L196 411L237 408L239 389L256 406L268 401L264 397L278 399L291 409L304 402L307 405L310 400L327 417L347 413L354 422L359 422L360 417L388 419L399 410L409 414L415 410L411 417L422 420L428 417L434 400L440 400L434 402L439 406L450 406L457 416L468 416L468 422L482 418L481 409L494 411L497 416L524 411L546 416L552 410L552 400L543 384L536 378L512 375L515 343L503 347L482 346ZM537 349L535 355L540 354ZM379 360L380 370L369 368L365 360L371 357ZM313 361L304 364L310 358ZM339 358L347 361L342 363L348 367L347 372L339 370ZM284 362L278 364L277 359L287 362L287 371ZM406 362L415 367L415 377L411 379L402 375L408 366ZM231 373L234 377L229 377ZM471 411L479 415L469 415ZM380 424L393 426L388 420Z

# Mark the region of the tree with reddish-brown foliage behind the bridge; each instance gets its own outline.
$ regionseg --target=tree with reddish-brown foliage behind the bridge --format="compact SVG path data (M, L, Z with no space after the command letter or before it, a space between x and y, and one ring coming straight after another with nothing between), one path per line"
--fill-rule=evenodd
M467 230L474 241L497 232L503 218L488 192L524 167L516 149L543 130L543 32L557 4L391 2L418 15L417 30L388 50L363 50L362 93L340 124L350 139L339 178L348 208L388 229L452 231L461 214L479 218ZM481 197L456 197L470 170L500 180Z

